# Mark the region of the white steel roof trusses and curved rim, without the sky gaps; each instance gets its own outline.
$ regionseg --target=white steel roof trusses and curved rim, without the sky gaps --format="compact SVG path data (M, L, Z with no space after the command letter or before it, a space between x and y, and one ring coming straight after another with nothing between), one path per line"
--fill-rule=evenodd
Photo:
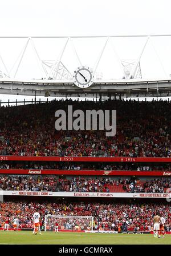
M83 47L86 52L86 42L84 44L84 39L92 39L96 38L97 40L101 38L103 40L103 44L99 54L96 57L95 65L93 65L93 72L95 74L95 78L93 80L93 84L87 89L80 89L78 86L74 84L73 80L73 72L76 66L73 68L69 68L67 65L67 59L64 62L63 56L66 53L66 49L68 45L71 46L72 51L76 60L78 61L78 66L82 66L85 64L80 57L78 50L74 44L74 40L82 39ZM128 60L127 58L121 59L117 50L115 48L115 41L113 38L144 38L143 44L141 45L141 49L139 52L139 56L137 58L131 58ZM139 35L139 36L87 36L87 37L0 37L0 93L1 94L17 94L23 96L51 96L51 97L169 97L171 96L171 77L169 73L166 72L165 66L162 63L161 56L157 52L157 48L152 41L152 38L170 38L171 35ZM1 42L3 40L12 40L11 47L14 44L15 40L25 40L25 44L21 44L21 51L18 54L17 60L11 58L9 61L12 68L9 70L9 67L6 65L6 58L2 57L3 46L6 43ZM35 40L63 40L63 46L60 49L60 54L58 58L46 59L44 60L41 54L39 54L39 46L35 44ZM170 40L169 39L169 40ZM7 42L7 41L4 41ZM158 63L161 66L161 70L163 70L162 77L152 77L145 78L144 74L141 72L141 68L143 64L141 60L143 58L143 54L145 52L146 47L149 42L151 43L152 49L156 54L156 58ZM10 44L9 44L10 45ZM14 44L15 45L15 44ZM45 43L46 45L46 43ZM58 44L56 44L58 47ZM103 61L103 55L105 54L105 50L108 45L110 45L111 52L109 54L114 54L112 57L115 59L116 65L120 69L120 78L118 77L100 77L100 72L98 73L99 64ZM1 48L1 46L3 46ZM22 73L27 74L29 71L29 65L32 63L29 62L26 65L26 70L22 66L23 59L25 58L28 47L32 50L34 58L36 59L37 68L40 70L39 78L20 78L18 76L19 69L22 67ZM48 50L47 50L48 51ZM13 50L13 52L15 52ZM88 52L88 50L87 50ZM67 52L68 54L68 52ZM9 52L10 55L10 52ZM91 52L92 55L92 52ZM163 57L163 56L162 56ZM167 58L166 54L166 58ZM10 59L10 56L8 56ZM168 57L169 58L169 57ZM68 55L68 59L70 59L70 55ZM27 60L27 58L26 58ZM70 60L71 61L71 60ZM171 59L169 60L171 61ZM25 61L26 62L26 61ZM83 62L83 63L82 63ZM169 63L169 62L168 62ZM146 64L148 64L148 58L146 60ZM105 66L108 65L106 61L104 63ZM111 65L111 64L109 64ZM34 66L36 69L36 66ZM103 71L103 70L102 70ZM171 72L170 72L171 73Z

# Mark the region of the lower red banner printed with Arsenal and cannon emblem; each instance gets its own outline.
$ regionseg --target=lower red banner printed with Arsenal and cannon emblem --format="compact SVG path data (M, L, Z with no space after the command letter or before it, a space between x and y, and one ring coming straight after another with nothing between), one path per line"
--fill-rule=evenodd
M171 176L169 171L95 171L95 170L23 170L0 169L0 174L87 175L87 176Z

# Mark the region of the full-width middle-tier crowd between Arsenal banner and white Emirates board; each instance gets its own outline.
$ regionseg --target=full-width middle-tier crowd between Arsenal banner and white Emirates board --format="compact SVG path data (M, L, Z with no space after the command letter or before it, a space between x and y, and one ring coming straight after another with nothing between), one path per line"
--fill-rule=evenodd
M171 178L130 179L113 177L63 177L37 175L0 175L0 189L12 191L52 191L52 192L115 192L122 185L123 191L130 193L164 193L171 188ZM123 192L120 191L120 192Z

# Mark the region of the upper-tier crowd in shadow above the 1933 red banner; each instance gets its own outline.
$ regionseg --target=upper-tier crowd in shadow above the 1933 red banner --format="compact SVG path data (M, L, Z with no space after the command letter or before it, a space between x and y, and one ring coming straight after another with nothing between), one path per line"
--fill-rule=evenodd
M105 131L56 131L55 111L116 109L116 136ZM0 108L0 155L170 157L168 101L52 101Z

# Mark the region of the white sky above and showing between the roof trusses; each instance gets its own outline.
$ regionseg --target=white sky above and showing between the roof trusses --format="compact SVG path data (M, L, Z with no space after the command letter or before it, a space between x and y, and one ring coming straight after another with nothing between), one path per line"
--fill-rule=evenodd
M171 15L170 15L170 0L0 0L1 3L1 34L0 36L112 36L112 35L140 35L140 34L171 34ZM152 38L149 42L144 59L142 58L142 72L148 78L161 72L160 76L171 73L171 38L162 38L156 40ZM167 41L168 40L168 41ZM104 39L93 42L86 42L87 51L84 50L84 44L80 41L74 41L75 48L78 50L83 63L88 62L90 65L95 65L100 49L104 45ZM0 54L6 63L7 69L10 70L15 60L20 53L20 50L25 45L26 40L19 41L3 41L0 38ZM130 40L114 40L112 41L119 58L136 59L140 54L140 49L145 43L145 38L133 41ZM63 49L64 41L60 42L57 48L56 42L43 42L35 40L34 44L39 50L40 58L59 58L60 52ZM92 45L92 49L90 49ZM153 48L155 45L155 49ZM30 47L30 48L29 48ZM36 62L34 57L31 57L28 47L26 60L23 59L27 66L28 62ZM121 69L117 62L117 56L113 52L112 60L109 60L108 46L106 53L99 64L99 72L103 72L103 77L112 78L112 75L118 74L121 77ZM89 50L88 50L89 49ZM69 69L76 66L74 58L68 58L70 46L63 56L64 64L68 65ZM47 54L48 53L48 54ZM150 53L150 57L149 57ZM54 56L53 56L54 55ZM164 56L168 55L168 59ZM72 56L72 55L71 55ZM31 60L29 61L29 57ZM146 57L149 57L149 66L146 65ZM70 59L70 62L69 62ZM114 60L115 59L115 60ZM71 60L73 62L71 62ZM113 61L114 60L114 61ZM68 61L68 63L67 63ZM109 65L109 68L104 68ZM161 66L161 62L164 66ZM87 63L86 63L87 64ZM34 63L32 69L35 71ZM0 62L0 67L2 66ZM112 68L111 68L112 67ZM113 72L115 67L115 72ZM12 70L15 73L16 66ZM27 69L31 72L31 69ZM155 74L154 73L155 70ZM71 70L72 71L72 70ZM40 70L38 71L40 72ZM29 73L29 72L28 72ZM21 69L18 70L18 76L26 76ZM30 74L31 76L31 74ZM32 74L36 76L36 74ZM13 97L13 96L11 96ZM10 99L9 96L1 95L1 99Z

